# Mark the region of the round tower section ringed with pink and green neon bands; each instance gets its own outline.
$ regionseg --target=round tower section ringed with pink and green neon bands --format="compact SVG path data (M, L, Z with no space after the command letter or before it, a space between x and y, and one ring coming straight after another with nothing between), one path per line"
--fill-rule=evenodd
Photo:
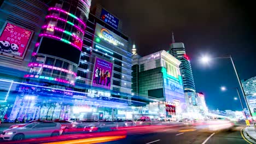
M51 1L24 77L30 82L73 87L91 0Z

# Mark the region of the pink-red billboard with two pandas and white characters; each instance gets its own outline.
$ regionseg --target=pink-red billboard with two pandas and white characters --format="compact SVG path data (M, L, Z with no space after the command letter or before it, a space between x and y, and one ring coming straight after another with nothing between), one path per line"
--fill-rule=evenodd
M0 35L0 53L23 59L33 32L6 22Z

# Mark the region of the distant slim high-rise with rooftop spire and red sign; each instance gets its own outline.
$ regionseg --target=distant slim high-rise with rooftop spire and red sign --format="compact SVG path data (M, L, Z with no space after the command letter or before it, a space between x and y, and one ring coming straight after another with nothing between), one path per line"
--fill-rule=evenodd
M195 92L195 83L189 56L186 54L185 46L183 43L175 43L173 33L169 53L181 61L180 68L184 85L184 92Z

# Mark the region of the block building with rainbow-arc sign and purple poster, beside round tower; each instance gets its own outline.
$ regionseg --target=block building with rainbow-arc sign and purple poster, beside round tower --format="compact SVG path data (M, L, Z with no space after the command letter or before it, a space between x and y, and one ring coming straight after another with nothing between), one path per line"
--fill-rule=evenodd
M105 91L115 97L131 97L132 53L128 43L129 37L121 31L122 25L120 19L101 5L96 5L92 9L86 23L75 89L84 92L94 91L93 93ZM100 67L99 64L102 62L110 68ZM107 81L96 82L97 67L105 72L108 70L110 79L107 87L104 86Z

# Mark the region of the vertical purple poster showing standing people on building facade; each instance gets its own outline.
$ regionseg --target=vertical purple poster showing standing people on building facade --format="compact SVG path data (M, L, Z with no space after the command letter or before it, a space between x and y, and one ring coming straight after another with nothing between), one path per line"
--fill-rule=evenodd
M95 59L92 86L110 89L113 63L100 58Z

